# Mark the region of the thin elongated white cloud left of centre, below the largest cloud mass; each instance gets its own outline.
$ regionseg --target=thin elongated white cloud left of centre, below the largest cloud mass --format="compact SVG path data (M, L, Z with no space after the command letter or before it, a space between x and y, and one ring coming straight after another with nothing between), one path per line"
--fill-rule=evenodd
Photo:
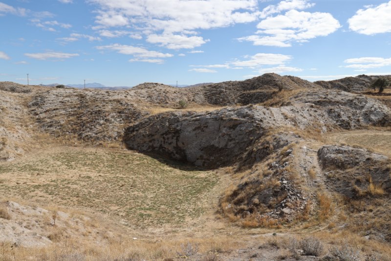
M113 44L109 46L98 46L96 47L99 50L114 50L118 53L122 54L128 54L133 55L134 57L138 58L167 58L167 57L173 57L174 55L171 53L162 53L158 51L150 51L143 47L134 47L134 46L126 46L126 45L119 45L119 44Z

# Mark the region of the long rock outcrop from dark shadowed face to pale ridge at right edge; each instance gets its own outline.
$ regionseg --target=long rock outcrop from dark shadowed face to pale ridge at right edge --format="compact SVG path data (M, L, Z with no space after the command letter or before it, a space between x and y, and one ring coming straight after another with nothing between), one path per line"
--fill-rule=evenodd
M174 112L141 120L126 130L130 149L159 152L196 166L225 166L243 160L265 130L278 127L323 131L390 125L391 110L365 96L344 92L309 92L281 108L245 106L209 113ZM258 142L258 143L257 143ZM240 156L241 155L241 156ZM243 156L244 155L244 156Z

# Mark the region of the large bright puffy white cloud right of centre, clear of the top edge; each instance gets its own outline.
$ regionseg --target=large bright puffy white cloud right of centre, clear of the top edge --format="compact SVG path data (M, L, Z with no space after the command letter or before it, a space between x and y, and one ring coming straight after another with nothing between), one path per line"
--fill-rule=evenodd
M290 47L292 42L307 42L335 32L341 25L329 13L290 10L284 15L267 17L258 25L256 35L241 37L256 46Z

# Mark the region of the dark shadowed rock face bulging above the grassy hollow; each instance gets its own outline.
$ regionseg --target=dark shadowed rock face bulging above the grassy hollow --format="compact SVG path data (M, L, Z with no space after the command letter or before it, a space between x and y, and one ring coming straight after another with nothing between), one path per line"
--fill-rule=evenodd
M155 115L129 127L125 142L139 151L215 167L234 163L262 135L260 118L252 109L242 107Z

